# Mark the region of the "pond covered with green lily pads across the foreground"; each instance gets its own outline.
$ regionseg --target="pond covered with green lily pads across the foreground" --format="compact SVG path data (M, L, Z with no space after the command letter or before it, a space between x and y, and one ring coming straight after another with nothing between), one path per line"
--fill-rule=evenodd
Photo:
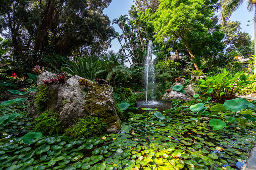
M32 144L19 135L33 130L26 105L4 107L2 115L20 115L0 125L0 169L240 169L253 146L253 129L215 131L207 120L192 120L195 114L163 115L170 102L138 104L119 132L43 135Z

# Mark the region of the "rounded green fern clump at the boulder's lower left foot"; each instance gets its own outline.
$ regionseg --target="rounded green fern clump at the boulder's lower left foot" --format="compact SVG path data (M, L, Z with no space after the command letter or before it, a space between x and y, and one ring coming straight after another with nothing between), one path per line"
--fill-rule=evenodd
M43 134L59 133L63 128L58 113L52 113L51 111L42 112L35 119L35 126L35 131Z

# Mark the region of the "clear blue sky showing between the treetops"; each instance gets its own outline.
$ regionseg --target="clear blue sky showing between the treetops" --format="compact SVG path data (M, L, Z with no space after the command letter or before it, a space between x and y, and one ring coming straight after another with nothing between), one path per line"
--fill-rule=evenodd
M112 0L112 3L110 4L110 6L107 9L105 9L103 12L110 18L111 24L112 24L113 19L119 18L121 15L128 15L128 11L130 10L133 4L134 4L133 0ZM254 23L252 22L247 23L247 21L252 20L253 17L254 17L254 11L251 13L248 12L247 4L243 3L243 5L232 14L230 20L241 22L242 32L249 33L249 35L251 35L253 40L254 39ZM246 27L247 24L251 24L251 25ZM116 29L117 32L120 32L120 34L122 33L118 25L114 24L112 26ZM111 50L118 52L119 49L120 49L120 44L118 40L117 39L112 40Z

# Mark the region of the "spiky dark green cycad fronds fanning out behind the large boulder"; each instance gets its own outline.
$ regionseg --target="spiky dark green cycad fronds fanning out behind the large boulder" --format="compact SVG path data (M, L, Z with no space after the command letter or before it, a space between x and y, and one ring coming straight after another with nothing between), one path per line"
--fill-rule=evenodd
M71 75L77 75L89 80L94 80L96 78L96 73L101 69L101 62L94 59L93 56L86 58L76 57L76 60L67 61L63 64L64 71Z

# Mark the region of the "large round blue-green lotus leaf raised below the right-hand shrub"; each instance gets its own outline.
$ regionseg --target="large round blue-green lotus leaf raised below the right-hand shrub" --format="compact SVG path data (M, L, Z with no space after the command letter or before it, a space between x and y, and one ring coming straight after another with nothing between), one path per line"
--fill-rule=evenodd
M225 109L237 112L248 107L249 102L243 98L236 98L232 100L226 100L223 104Z

